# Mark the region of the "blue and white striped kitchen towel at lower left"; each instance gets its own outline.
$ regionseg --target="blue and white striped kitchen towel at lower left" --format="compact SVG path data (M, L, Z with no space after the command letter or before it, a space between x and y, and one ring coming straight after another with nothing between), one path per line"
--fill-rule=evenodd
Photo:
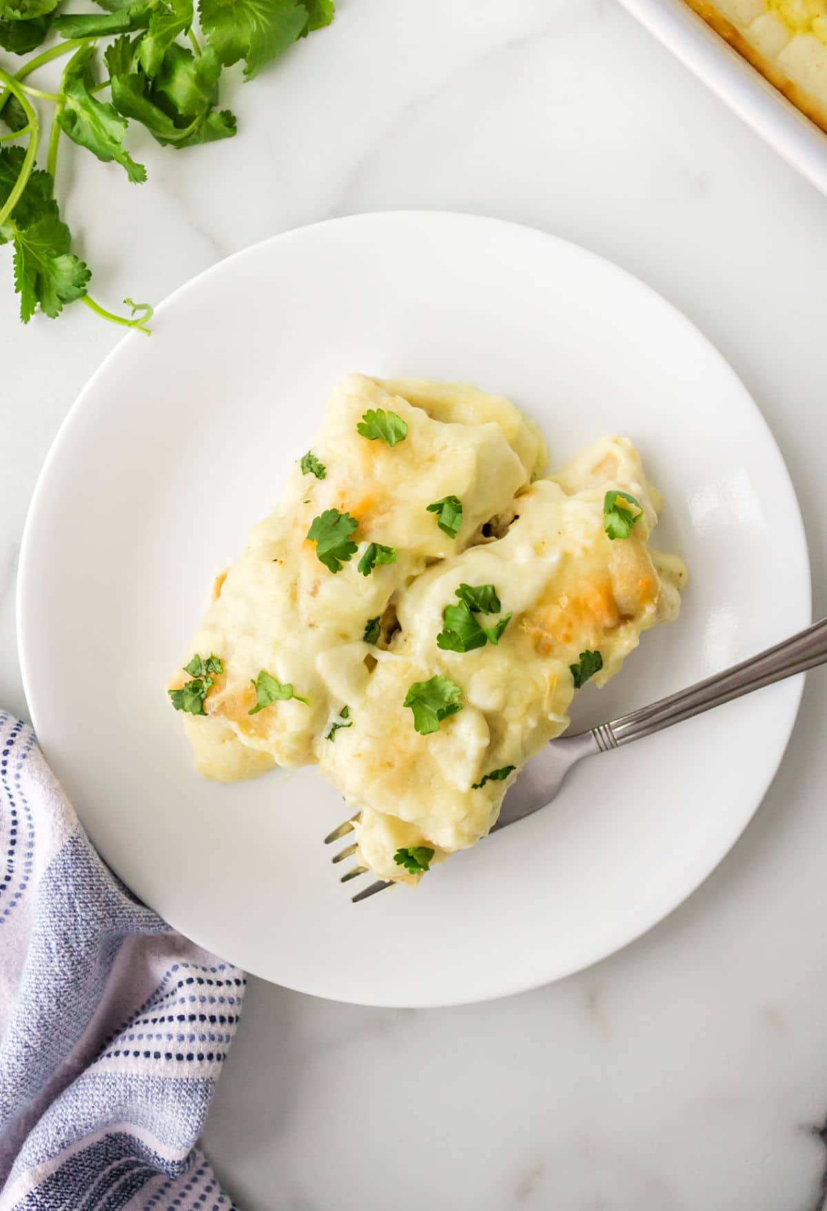
M245 976L92 849L0 712L0 1209L230 1211L196 1142Z

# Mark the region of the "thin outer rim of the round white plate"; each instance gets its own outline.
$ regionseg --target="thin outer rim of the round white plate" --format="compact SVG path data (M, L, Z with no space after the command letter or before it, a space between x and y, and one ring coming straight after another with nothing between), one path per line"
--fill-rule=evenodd
M769 423L766 421L763 412L760 411L758 403L752 396L752 392L748 390L746 384L735 372L734 367L722 354L722 351L718 349L714 342L710 337L707 337L706 333L702 332L702 329L699 328L697 325L695 325L694 321L690 320L674 303L672 303L671 299L662 295L647 281L632 274L625 266L616 264L615 262L602 256L601 253L595 252L591 248L584 247L582 245L579 245L575 241L568 240L563 236L558 236L551 231L545 231L541 228L535 228L529 224L512 222L510 219L492 218L473 212L444 211L444 210L410 210L410 208L364 211L364 212L358 212L357 214L341 216L338 218L323 219L318 223L308 223L298 228L291 228L286 231L257 241L253 245L248 245L245 248L240 248L235 253L231 253L229 257L222 258L220 260L214 262L212 265L208 265L206 269L201 270L199 274L188 279L185 282L178 286L174 291L172 291L168 295L166 295L166 298L163 298L162 302L157 305L157 308L155 309L155 315L162 316L180 297L185 295L190 291L197 291L203 279L211 275L218 275L224 270L225 266L243 260L245 258L254 257L255 254L260 253L263 248L268 246L276 245L278 242L288 242L315 229L325 229L331 226L341 228L348 225L363 224L366 222L369 223L373 220L385 222L389 219L392 222L435 220L438 223L446 223L446 222L447 223L459 222L461 224L472 223L483 226L511 229L516 231L519 237L523 239L528 236L530 239L540 239L542 241L551 241L557 245L564 245L569 249L574 249L578 254L585 256L586 258L593 262L601 263L601 265L604 269L608 268L609 271L621 275L633 286L633 288L641 289L650 298L654 298L661 306L665 306L666 309L668 309L670 312L672 312L673 318L676 318L678 323L690 329L696 339L701 340L706 346L708 346L714 358L719 362L722 369L725 373L728 373L737 384L737 386L741 389L745 403L748 403L751 406L753 419L756 419L759 423L759 425L763 426L765 436L769 438L770 448L777 459L779 471L786 482L791 504L789 522L792 527L792 533L789 534L789 543L791 546L794 547L794 556L793 556L794 563L797 566L800 566L800 570L803 573L802 607L805 616L803 626L808 625L808 622L812 618L811 567L810 567L809 547L806 541L806 530L804 527L802 510L798 501L796 486L789 474L787 463L783 458L783 453L775 440L775 436L770 429ZM58 430L51 442L48 452L38 474L34 490L31 493L31 499L29 501L29 506L27 510L25 523L21 540L21 553L18 564L18 576L17 576L16 629L17 629L17 647L18 647L18 658L21 665L22 681L23 681L23 690L25 694L25 701L29 708L35 735L39 734L39 729L38 729L36 691L33 691L33 677L31 677L33 639L29 633L28 624L25 620L27 619L25 607L28 597L33 591L30 586L31 562L33 562L31 552L34 550L34 544L35 544L34 535L38 526L38 515L45 505L47 482L51 477L51 471L53 465L61 458L61 447L70 427L73 426L77 417L81 414L82 409L91 406L90 401L93 398L99 378L102 378L109 371L110 365L117 360L117 357L121 355L121 351L128 343L134 343L137 340L145 340L145 339L147 338L144 335L134 331L125 333L125 335L113 346L113 349L107 354L107 356L96 367L96 369L92 372L87 381L84 384L77 396L68 408L67 414L63 418L61 425L58 426ZM727 839L725 848L720 850L714 862L712 862L708 867L706 866L706 863L703 863L705 873L700 878L693 874L690 879L691 885L688 889L682 888L677 899L673 899L672 896L668 897L670 899L668 908L664 911L657 909L657 916L655 917L655 919L649 920L647 924L643 924L639 929L636 929L633 932L628 934L625 941L618 945L610 945L608 949L604 943L598 943L595 947L593 953L591 953L586 948L584 951L585 958L563 965L561 970L558 970L555 975L547 978L542 978L540 981L533 977L515 978L512 981L504 980L493 991L492 989L486 992L477 991L472 992L469 995L463 995L459 999L456 994L449 994L447 997L440 994L430 994L430 995L426 994L419 998L413 1005L409 998L395 999L392 997L383 995L381 999L373 998L371 1000L362 1000L352 995L343 997L341 994L320 992L316 988L301 987L299 985L288 983L281 980L275 981L271 976L264 974L260 970L257 970L257 965L254 963L241 964L241 965L251 975L257 975L258 977L266 980L270 983L278 983L281 987L289 988L294 992L299 992L305 995L321 997L322 999L339 1001L341 1004L371 1005L375 1008L389 1008L389 1009L400 1009L400 1008L431 1009L431 1008L448 1008L448 1006L465 1005L465 1004L478 1004L487 1000L495 1000L501 997L516 995L521 992L528 992L533 988L545 987L547 983L555 983L558 980L568 978L569 976L574 975L578 971L587 970L596 963L599 963L602 959L609 958L611 954L620 953L627 946L631 946L633 942L638 941L638 939L645 936L656 925L660 925L664 920L666 920L700 886L702 886L703 883L706 883L710 876L718 868L718 866L729 855L735 843L739 840L739 838L746 831L751 821L754 819L756 813L758 811L760 804L766 797L766 793L777 775L779 768L787 751L789 737L792 735L798 717L805 676L806 675L802 673L794 678L789 678L789 681L786 683L787 693L791 696L791 704L789 704L791 708L789 708L788 721L783 725L783 739L782 742L779 745L777 759L771 764L771 768L769 768L765 780L763 780L763 788L760 791L760 794L757 797L757 800L752 807L750 814L746 816L743 821L734 826L731 836L729 836ZM45 757L46 761L48 762L47 752L45 752ZM76 814L81 826L86 828L81 815L79 813ZM117 866L110 862L108 857L103 857L103 855L100 856L102 860L107 862L108 866L110 866L110 868L115 872L115 874L117 874ZM153 908L153 911L157 912L157 909L154 908L153 905L149 905L149 907ZM203 937L200 929L196 929L195 931L189 929L186 930L180 929L180 926L177 924L174 919L178 916L177 913L173 913L172 918L165 913L159 913L159 916L161 916L171 925L172 929L182 932L185 937L189 937L197 946L201 946L206 951L213 951L213 946L211 945L209 940ZM232 960L230 959L228 962Z

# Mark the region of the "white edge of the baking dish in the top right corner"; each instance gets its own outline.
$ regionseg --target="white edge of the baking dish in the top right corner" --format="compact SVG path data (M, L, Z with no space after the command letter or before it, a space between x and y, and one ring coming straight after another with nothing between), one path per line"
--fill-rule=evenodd
M788 163L827 194L827 134L693 12L685 0L620 0Z

